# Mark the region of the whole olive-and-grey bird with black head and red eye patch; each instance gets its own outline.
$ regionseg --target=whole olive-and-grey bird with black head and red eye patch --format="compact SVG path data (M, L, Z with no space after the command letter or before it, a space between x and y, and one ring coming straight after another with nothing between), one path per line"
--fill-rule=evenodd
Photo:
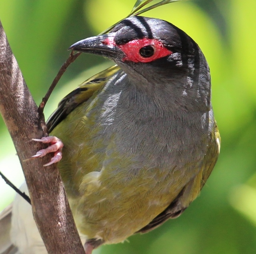
M216 164L220 134L206 58L173 24L133 16L70 49L115 65L60 101L47 121L51 136L36 139L50 146L36 157L54 152L49 164L58 163L85 252L91 254L180 216ZM10 217L10 210L2 217ZM12 216L13 228L14 208ZM19 248L17 230L24 228L11 229ZM21 254L36 253L27 245Z

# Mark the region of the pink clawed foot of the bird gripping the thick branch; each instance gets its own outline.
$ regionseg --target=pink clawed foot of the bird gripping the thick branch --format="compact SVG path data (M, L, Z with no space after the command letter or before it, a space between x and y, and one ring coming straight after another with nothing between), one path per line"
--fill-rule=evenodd
M37 142L42 142L42 143L48 143L48 144L50 144L50 146L48 146L45 149L39 150L31 158L44 157L44 156L46 156L46 154L49 154L50 152L54 152L54 156L51 158L50 162L44 164L44 166L49 166L49 165L57 163L61 160L61 158L62 158L61 150L63 148L63 143L59 138L57 138L55 136L48 136L48 137L43 137L43 138L32 138L32 140L37 141Z

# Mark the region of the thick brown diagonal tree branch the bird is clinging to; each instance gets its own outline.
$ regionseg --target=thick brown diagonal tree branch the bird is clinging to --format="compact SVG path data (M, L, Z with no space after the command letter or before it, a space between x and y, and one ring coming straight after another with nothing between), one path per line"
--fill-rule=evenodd
M27 160L45 148L32 138L47 136L36 106L0 22L0 112L8 127L22 165L32 211L49 254L84 254L66 193L56 165L43 167L44 158Z

